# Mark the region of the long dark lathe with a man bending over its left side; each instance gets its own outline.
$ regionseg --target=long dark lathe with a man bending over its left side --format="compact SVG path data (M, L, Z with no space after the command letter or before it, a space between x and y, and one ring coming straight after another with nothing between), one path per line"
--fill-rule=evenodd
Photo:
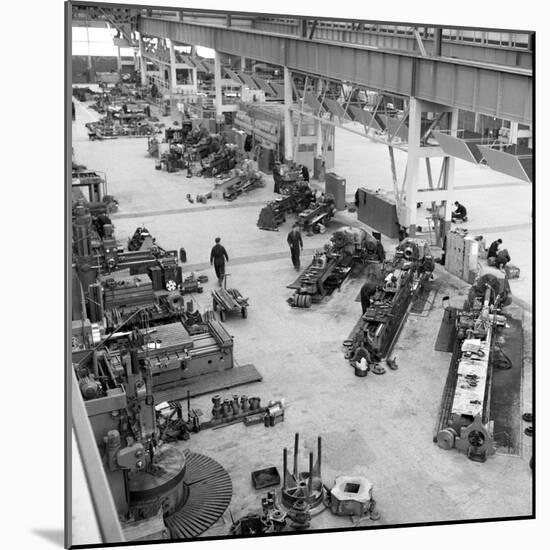
M391 353L413 298L434 267L426 241L408 238L399 243L393 259L383 264L370 306L344 342L352 365L362 358L376 363Z

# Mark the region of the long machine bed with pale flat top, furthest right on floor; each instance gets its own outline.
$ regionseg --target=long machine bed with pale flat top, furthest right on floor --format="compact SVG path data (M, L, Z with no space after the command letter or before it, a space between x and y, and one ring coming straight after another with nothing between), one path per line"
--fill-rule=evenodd
M492 362L503 295L493 276L484 275L472 287L468 309L456 315L456 340L434 442L445 450L456 448L468 458L484 462L495 452L490 417Z

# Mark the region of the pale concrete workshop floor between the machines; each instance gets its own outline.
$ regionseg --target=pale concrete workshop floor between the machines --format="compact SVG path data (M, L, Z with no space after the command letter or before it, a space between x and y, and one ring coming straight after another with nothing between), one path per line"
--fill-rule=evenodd
M306 450L315 450L317 436L323 438L326 485L332 486L339 474L364 475L374 483L381 519L361 526L531 514L531 440L523 432L519 455L498 452L484 464L432 442L450 362L450 354L434 351L443 316L441 298L449 295L451 305L460 307L466 283L437 266L433 307L408 318L395 347L399 369L357 378L341 344L359 318L360 303L354 300L362 283L346 281L329 300L311 309L289 307L286 299L291 291L286 285L296 277L286 244L291 221L279 232L256 227L262 205L275 196L271 176L265 177L265 188L232 203L214 197L206 205L190 204L187 193L194 197L207 192L213 180L155 170L146 139L90 142L84 123L96 113L75 103L75 158L90 169L106 172L109 193L120 203L119 212L112 216L120 243L126 244L143 224L162 247L185 247L184 269L204 272L210 279L204 293L194 299L210 307L214 273L208 259L214 237L220 236L230 258L228 286L250 298L248 318L230 317L226 327L234 336L237 361L253 363L263 381L236 392L260 396L263 403L284 398L285 421L273 428L238 424L208 430L182 444L216 459L230 473L234 496L229 510L235 519L260 509L265 491L253 489L250 473L269 466L277 466L282 473L282 449L292 449L295 432L301 435L303 469ZM398 155L402 178L405 155ZM336 135L333 171L347 179L350 200L359 186L391 190L387 150L343 130ZM471 233L483 234L489 242L502 237L513 263L521 268L521 278L511 281L516 304L510 310L523 320L525 329L518 410L530 412L531 187L462 161L456 162L455 173L456 196L468 208ZM420 214L420 225L422 220ZM356 224L355 214L341 212L329 230ZM328 234L304 237L302 264L328 239ZM395 244L388 239L383 243L389 251ZM205 418L210 417L210 398L193 400ZM226 513L204 535L224 535L230 523ZM328 511L312 521L312 529L334 527L352 527L352 523Z

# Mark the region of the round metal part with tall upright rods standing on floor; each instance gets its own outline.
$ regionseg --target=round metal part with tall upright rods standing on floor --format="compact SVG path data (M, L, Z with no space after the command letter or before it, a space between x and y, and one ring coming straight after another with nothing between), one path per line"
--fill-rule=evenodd
M294 516L302 513L316 515L323 511L326 496L321 479L321 438L317 438L317 461L313 462L313 452L309 453L309 469L298 471L299 434L294 436L294 467L292 473L287 468L287 449L283 449L283 486L281 488L281 505L296 521ZM302 510L302 503L307 509Z

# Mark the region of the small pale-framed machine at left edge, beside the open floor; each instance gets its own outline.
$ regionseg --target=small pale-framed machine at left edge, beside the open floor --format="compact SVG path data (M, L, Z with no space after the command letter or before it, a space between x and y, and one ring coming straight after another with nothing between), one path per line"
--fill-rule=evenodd
M83 201L94 215L110 214L118 210L118 202L107 194L105 174L73 163L71 191L73 205Z

